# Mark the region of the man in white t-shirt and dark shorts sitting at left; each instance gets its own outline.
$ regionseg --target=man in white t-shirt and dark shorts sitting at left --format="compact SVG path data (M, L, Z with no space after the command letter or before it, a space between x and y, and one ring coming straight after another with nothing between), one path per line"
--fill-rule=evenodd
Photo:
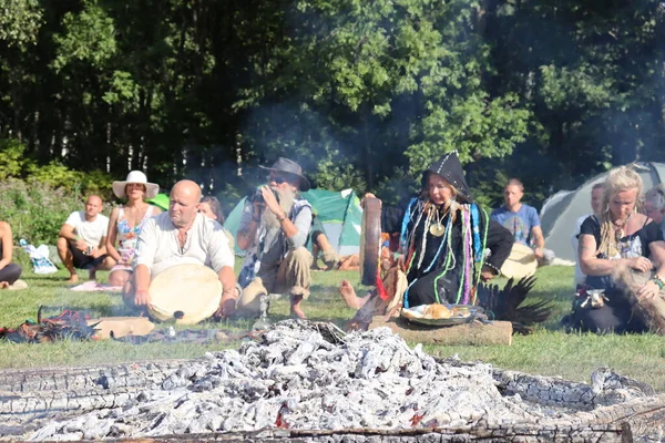
M109 270L115 260L106 254L106 229L109 217L100 214L102 198L91 195L85 202L85 210L70 214L58 234L58 255L70 272L69 284L79 281L76 269L88 269L94 280L98 270Z

